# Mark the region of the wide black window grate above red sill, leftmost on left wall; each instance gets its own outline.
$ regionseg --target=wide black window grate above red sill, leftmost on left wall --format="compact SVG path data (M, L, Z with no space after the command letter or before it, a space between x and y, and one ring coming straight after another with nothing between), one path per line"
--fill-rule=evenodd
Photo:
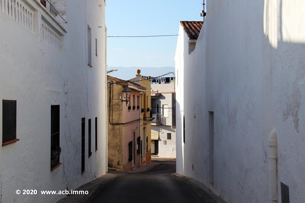
M2 142L16 139L16 100L2 100Z

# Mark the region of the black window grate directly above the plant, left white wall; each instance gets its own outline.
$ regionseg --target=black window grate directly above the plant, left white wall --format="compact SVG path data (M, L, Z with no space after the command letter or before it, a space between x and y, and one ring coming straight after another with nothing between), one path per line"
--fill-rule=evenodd
M59 147L59 105L51 106L51 150Z

